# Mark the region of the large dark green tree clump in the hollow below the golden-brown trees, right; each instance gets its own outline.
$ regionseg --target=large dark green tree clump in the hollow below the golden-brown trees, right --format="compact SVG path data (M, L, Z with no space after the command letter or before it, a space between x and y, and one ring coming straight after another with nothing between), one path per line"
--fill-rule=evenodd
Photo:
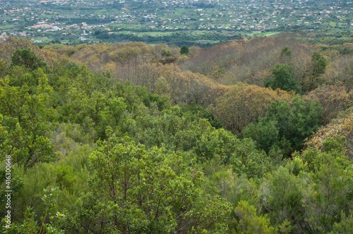
M303 148L306 137L321 126L322 113L318 102L304 101L300 97L294 97L292 104L273 101L268 105L265 118L247 125L241 134L255 140L265 152L278 148L289 156L292 149Z

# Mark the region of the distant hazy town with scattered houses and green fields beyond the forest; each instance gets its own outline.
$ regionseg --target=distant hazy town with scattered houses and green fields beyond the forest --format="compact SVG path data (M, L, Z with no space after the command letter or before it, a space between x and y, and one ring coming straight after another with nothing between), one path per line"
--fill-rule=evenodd
M0 39L32 41L222 41L299 30L352 42L350 1L1 1ZM177 34L179 32L179 34ZM181 34L183 32L184 34Z

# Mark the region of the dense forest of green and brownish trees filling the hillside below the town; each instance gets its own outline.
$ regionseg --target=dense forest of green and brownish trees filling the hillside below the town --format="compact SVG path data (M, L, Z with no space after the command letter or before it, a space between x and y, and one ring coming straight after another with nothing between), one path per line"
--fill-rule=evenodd
M353 44L0 41L2 233L352 233ZM10 191L10 192L8 192Z

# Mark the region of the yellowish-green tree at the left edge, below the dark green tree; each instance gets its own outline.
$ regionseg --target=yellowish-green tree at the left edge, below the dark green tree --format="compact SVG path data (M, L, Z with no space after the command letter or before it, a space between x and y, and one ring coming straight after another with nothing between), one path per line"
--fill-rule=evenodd
M52 161L54 150L47 133L47 119L51 110L47 102L51 87L47 78L40 78L38 94L29 94L28 87L10 87L8 79L0 87L0 159L13 156L13 163L25 167L40 161Z

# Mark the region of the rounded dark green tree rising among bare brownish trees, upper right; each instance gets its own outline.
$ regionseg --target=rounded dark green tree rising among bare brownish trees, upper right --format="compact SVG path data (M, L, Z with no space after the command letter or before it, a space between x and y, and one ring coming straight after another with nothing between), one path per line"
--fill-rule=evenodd
M280 88L281 90L301 92L299 81L294 78L292 66L285 64L276 64L272 68L273 78L265 80L265 87L271 87L273 90Z

